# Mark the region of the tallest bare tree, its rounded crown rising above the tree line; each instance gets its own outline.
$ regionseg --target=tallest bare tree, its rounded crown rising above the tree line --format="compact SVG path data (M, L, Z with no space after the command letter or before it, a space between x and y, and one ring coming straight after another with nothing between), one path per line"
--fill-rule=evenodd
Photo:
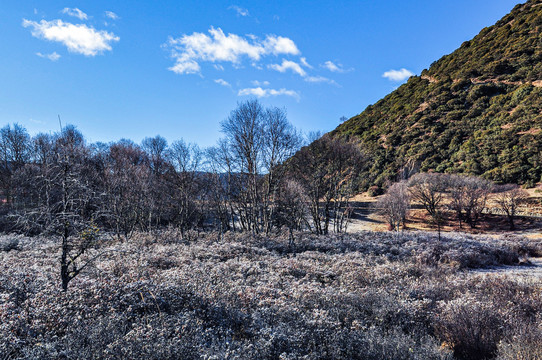
M299 149L301 137L286 110L265 109L258 100L238 104L222 122L222 131L226 137L213 156L227 165L232 214L242 229L269 233L284 177L280 165Z

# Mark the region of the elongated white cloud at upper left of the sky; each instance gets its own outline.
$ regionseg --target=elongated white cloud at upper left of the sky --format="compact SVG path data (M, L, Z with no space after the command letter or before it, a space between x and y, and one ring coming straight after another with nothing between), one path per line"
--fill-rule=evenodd
M107 31L96 30L84 24L65 23L62 20L41 20L38 23L23 19L22 25L31 27L34 37L60 42L69 51L85 56L95 56L104 51L110 51L112 50L111 43L120 39Z

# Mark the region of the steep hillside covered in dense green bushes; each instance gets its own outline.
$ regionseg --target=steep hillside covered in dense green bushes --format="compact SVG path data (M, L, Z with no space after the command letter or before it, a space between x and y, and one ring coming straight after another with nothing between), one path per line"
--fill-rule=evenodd
M364 187L401 168L533 185L542 175L542 1L517 5L331 132L368 154Z

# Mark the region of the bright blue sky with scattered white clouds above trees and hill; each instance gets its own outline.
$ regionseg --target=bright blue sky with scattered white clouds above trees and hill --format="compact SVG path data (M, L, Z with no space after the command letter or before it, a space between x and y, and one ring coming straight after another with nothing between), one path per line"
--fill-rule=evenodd
M201 146L237 102L330 131L517 0L3 1L0 119Z

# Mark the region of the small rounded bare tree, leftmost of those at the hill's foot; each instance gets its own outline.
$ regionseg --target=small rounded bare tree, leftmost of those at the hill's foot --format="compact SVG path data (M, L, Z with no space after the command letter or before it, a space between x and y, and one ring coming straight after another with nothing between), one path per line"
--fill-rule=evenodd
M377 202L379 212L384 215L391 230L399 231L406 222L410 210L410 194L406 182L398 182L389 187Z

